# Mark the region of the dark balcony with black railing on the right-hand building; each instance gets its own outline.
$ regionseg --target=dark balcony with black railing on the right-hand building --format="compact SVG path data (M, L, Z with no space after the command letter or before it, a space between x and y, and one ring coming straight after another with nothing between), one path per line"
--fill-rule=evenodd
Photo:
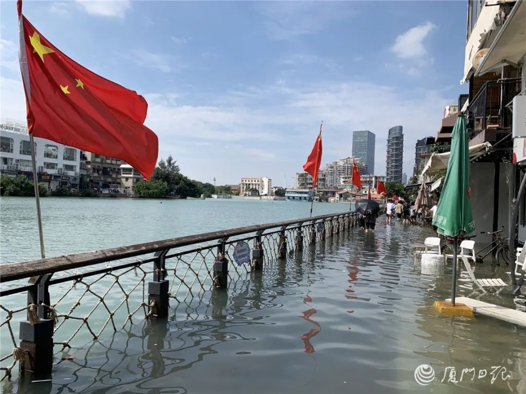
M499 141L511 132L512 112L508 103L521 90L520 78L487 81L466 111L470 146Z

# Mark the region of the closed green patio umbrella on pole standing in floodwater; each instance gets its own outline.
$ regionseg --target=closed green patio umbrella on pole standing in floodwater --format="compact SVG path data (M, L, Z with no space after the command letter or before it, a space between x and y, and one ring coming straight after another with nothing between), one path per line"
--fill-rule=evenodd
M438 232L454 237L453 243L453 288L451 303L455 304L457 281L457 240L459 234L475 231L473 210L471 209L471 190L469 187L469 146L466 132L466 118L459 115L451 134L451 152L448 170L437 212L433 215L433 225Z

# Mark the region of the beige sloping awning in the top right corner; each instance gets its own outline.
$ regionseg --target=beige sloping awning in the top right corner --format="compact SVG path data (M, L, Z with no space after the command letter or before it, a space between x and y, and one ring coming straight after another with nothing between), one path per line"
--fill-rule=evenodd
M518 64L526 55L526 2L515 3L506 22L493 40L475 75L479 76L502 64Z

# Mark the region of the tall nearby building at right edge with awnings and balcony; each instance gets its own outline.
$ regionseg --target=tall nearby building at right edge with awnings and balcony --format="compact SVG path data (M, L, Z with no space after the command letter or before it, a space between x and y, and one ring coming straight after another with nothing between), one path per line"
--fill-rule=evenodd
M491 236L481 231L510 229L510 207L523 169L510 158L523 153L526 129L526 46L524 32L525 2L488 0L467 3L468 26L461 95L456 107L446 108L436 142L450 143L454 122L466 115L470 146L470 185L476 242L487 243ZM511 111L510 109L513 109ZM454 112L456 111L456 112ZM522 116L522 122L516 121ZM521 128L522 126L522 128ZM521 131L522 130L522 131ZM514 151L515 146L520 147ZM495 147L495 148L493 148ZM448 151L440 160L447 162ZM517 160L519 163L519 160ZM435 161L438 163L438 161ZM429 164L429 166L427 165ZM433 167L431 157L422 181L430 180L441 168ZM521 206L519 218L526 217ZM519 240L526 239L526 221L519 219Z

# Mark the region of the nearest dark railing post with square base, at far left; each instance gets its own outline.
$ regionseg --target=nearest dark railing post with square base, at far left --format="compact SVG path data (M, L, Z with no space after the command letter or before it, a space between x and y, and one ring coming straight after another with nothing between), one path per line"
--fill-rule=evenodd
M20 373L31 372L33 378L50 377L53 369L54 321L49 318L48 308L43 306L50 305L51 275L36 278L33 288L27 292L27 321L20 323L20 349L23 351Z

